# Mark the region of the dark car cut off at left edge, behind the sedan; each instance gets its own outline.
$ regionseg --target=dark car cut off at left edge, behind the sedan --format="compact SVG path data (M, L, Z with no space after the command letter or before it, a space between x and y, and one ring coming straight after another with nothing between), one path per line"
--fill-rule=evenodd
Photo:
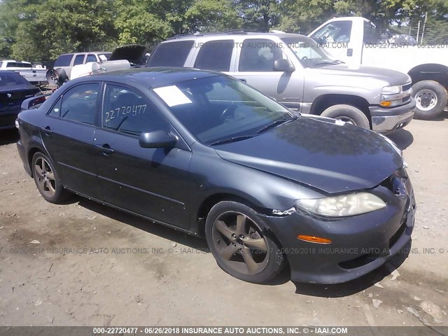
M15 71L0 71L0 130L14 128L20 104L39 89Z

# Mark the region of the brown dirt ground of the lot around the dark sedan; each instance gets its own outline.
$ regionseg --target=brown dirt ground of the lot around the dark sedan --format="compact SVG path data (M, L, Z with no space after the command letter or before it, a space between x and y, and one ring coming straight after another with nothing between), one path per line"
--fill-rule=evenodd
M195 237L78 197L45 202L3 132L0 325L448 325L448 113L391 139L418 205L409 258L337 286L292 283L288 269L258 286Z

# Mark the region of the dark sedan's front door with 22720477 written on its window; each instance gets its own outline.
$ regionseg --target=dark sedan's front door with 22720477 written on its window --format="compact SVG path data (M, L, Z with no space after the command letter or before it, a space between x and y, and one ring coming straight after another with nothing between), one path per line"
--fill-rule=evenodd
M155 130L172 127L150 99L132 87L106 85L102 130L94 137L104 201L188 228L184 204L190 190L191 152L180 148L141 148L139 134Z

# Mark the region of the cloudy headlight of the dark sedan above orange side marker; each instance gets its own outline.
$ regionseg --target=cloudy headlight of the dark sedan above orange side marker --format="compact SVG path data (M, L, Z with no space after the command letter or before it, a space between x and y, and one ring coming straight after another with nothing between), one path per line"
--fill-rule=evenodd
M386 203L381 198L371 193L295 200L295 204L313 214L329 217L354 216L386 207Z

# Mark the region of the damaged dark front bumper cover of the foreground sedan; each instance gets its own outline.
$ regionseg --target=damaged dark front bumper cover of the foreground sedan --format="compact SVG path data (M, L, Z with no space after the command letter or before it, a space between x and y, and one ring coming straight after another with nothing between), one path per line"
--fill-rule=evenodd
M409 179L402 182L402 186L401 190L405 191L401 195L384 186L370 190L388 206L359 216L329 221L295 212L289 216L265 218L283 246L291 280L304 283L350 281L380 267L400 252L411 239L416 209ZM315 244L297 239L297 235L323 237L332 242Z

